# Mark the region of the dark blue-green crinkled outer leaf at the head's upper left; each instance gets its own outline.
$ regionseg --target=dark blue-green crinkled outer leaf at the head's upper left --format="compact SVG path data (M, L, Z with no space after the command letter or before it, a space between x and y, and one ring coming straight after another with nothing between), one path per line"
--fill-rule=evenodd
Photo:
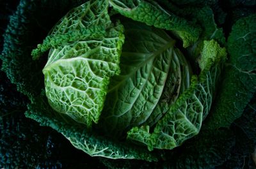
M81 1L29 1L22 0L10 17L4 33L0 58L7 77L17 85L17 90L30 98L41 92L42 61L32 61L31 50L47 34L54 23ZM49 12L42 12L49 11ZM40 20L40 23L38 22Z

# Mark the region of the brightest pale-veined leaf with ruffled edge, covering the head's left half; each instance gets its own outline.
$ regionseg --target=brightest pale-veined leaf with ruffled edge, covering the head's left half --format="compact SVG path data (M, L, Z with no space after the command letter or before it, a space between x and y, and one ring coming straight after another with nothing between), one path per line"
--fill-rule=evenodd
M36 57L52 47L43 73L54 110L87 126L99 121L109 77L120 71L122 31L111 25L108 1L88 1L68 12L33 50Z

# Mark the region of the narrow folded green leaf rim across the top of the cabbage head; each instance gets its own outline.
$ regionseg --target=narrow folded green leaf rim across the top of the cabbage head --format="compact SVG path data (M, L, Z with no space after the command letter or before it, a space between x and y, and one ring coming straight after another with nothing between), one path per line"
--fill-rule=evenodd
M198 40L200 28L190 24L184 18L165 11L154 1L111 0L109 3L125 17L143 22L149 26L172 31L182 39L184 47L188 47Z

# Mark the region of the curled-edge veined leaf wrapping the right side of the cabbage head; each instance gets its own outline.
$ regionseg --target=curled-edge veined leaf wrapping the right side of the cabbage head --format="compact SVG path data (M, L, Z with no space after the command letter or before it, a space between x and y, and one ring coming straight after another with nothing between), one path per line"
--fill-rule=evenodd
M142 126L131 129L128 138L145 143L152 150L173 149L197 135L211 108L225 56L225 49L220 48L216 41L205 41L201 56L205 66L198 80L193 78L189 89L179 96L169 112L157 122L153 133L148 133L147 127Z

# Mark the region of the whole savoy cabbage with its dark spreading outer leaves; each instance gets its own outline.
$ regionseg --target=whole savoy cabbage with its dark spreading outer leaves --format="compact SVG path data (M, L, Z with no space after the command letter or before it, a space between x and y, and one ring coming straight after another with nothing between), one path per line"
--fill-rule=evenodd
M182 2L74 1L49 24L51 13L33 10L49 9L48 1L20 1L1 59L30 100L26 117L110 168L134 168L131 159L141 168L212 168L229 160L230 125L255 92L256 15L238 20L226 42L214 2ZM42 25L46 38L26 39Z

